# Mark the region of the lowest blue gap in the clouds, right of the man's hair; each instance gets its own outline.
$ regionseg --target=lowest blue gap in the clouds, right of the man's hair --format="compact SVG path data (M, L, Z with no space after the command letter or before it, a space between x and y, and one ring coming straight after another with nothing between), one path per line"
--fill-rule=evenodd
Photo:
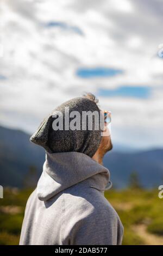
M104 97L136 97L146 99L151 93L151 88L145 86L121 86L116 89L99 89L98 96Z

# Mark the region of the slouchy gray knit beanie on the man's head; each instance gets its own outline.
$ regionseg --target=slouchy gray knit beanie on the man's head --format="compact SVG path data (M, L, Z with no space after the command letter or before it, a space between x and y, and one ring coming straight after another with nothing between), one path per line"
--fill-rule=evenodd
M60 111L63 117L65 117L65 107L68 107L70 112L78 111L81 116L83 111L98 111L100 114L100 109L94 101L86 97L76 97L55 108L54 111L43 120L32 137L30 137L30 141L42 146L48 153L75 151L92 157L101 142L100 125L99 129L95 130L94 120L92 122L92 130L88 129L87 124L86 130L82 130L82 122L80 130L53 130L52 123L55 119L53 114L56 113L56 111ZM72 118L70 118L70 121L71 119Z

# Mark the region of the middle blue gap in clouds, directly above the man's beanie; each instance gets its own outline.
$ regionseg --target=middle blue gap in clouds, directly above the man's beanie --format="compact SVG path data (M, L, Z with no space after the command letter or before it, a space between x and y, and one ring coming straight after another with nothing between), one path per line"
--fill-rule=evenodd
M97 77L111 77L122 74L123 71L111 68L80 68L77 70L76 75L81 78L97 78Z

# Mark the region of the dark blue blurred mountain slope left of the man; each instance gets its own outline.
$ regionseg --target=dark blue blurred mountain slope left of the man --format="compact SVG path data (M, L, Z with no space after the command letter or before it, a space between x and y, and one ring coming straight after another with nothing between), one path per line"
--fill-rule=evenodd
M30 166L41 173L45 161L44 150L29 141L30 136L19 130L0 126L0 184L23 186Z

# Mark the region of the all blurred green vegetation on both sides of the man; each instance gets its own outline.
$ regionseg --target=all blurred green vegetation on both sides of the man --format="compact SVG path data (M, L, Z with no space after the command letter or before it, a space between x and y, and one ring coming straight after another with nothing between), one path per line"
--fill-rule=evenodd
M158 190L143 190L137 186L137 181L133 185L134 188L130 186L127 190L105 192L123 223L123 245L163 245L163 199L159 199ZM27 188L4 190L4 198L0 199L0 245L18 244L31 192Z

